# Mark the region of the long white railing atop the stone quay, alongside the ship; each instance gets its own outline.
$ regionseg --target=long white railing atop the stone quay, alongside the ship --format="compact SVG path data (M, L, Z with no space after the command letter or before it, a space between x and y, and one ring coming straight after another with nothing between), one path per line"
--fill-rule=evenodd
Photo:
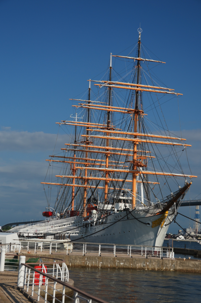
M66 255L90 255L98 256L104 255L126 255L132 256L154 256L158 258L174 258L173 248L157 247L157 246L143 246L143 245L117 245L117 244L97 244L97 243L83 243L71 241L41 241L38 240L20 240L20 251L37 253L37 251L54 254L57 252L64 252Z

